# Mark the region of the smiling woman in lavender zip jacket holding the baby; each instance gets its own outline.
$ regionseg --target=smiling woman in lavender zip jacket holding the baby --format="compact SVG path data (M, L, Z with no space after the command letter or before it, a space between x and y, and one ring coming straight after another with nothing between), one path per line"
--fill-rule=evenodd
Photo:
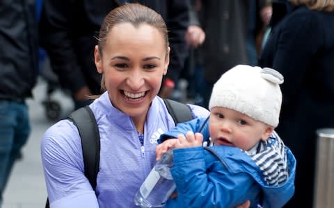
M96 193L84 175L77 128L59 121L41 147L50 207L136 207L134 195L156 163L157 138L175 126L157 96L169 51L166 24L154 10L127 3L106 15L94 51L103 94L89 105L101 144ZM193 118L209 114L189 107Z

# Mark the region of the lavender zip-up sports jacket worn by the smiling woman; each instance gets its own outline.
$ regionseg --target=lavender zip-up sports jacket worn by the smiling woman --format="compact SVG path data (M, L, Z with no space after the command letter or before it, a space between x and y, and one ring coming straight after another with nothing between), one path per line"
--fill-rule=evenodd
M207 117L203 107L189 105L193 117ZM155 164L157 139L175 127L164 101L153 99L145 122L144 145L132 119L113 107L108 92L90 108L100 130L100 171L96 195L84 176L81 139L71 121L58 121L42 139L42 164L51 208L136 207L134 195Z

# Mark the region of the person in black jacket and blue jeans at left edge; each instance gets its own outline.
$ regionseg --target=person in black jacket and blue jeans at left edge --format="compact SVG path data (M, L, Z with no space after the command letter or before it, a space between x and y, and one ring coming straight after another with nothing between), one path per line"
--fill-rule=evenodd
M37 77L35 0L0 1L0 207L19 151L29 137L25 98Z

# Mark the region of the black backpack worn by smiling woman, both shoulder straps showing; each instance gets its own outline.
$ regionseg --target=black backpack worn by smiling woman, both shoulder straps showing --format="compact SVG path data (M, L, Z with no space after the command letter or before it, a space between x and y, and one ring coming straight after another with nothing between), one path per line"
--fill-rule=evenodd
M167 98L163 100L175 125L193 119L188 105ZM84 157L85 175L95 191L96 177L100 168L100 133L95 116L90 107L85 106L72 112L67 119L78 128ZM49 208L49 199L47 199L45 208Z

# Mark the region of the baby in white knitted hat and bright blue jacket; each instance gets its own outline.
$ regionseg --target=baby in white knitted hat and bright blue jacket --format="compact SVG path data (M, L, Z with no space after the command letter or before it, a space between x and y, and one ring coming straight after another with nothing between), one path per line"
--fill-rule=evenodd
M296 160L274 132L281 83L278 71L237 65L214 85L209 118L161 135L157 159L173 149L178 193L166 207L283 207L292 198Z

